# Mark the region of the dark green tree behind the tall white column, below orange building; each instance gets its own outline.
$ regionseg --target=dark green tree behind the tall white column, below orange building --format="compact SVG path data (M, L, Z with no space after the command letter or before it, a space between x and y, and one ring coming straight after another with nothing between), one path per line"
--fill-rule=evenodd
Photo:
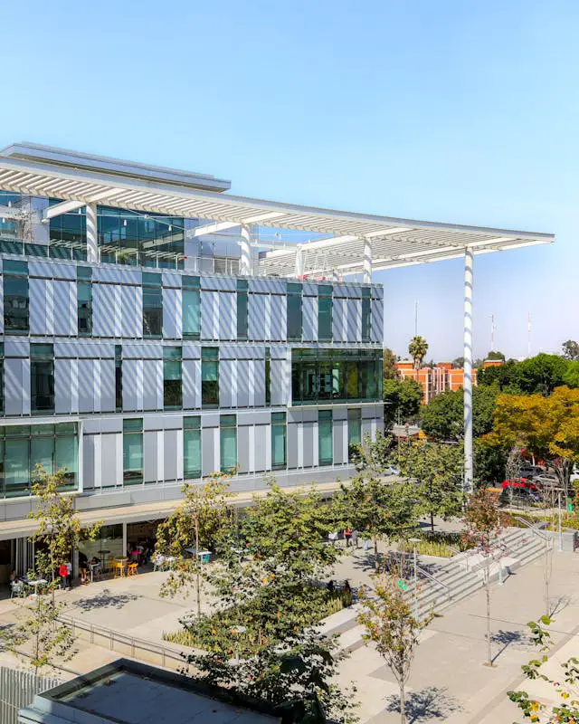
M498 386L472 390L472 433L480 437L492 430ZM464 436L464 392L447 390L422 407L422 432L433 440L458 441Z

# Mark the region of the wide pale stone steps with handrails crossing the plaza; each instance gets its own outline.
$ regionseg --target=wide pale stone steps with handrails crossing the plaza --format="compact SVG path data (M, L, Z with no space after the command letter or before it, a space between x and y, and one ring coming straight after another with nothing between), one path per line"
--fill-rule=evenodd
M499 541L500 554L495 555L490 563L472 551L460 553L444 564L421 557L415 597L413 560L412 556L406 557L403 569L403 586L406 586L404 594L408 602L416 606L417 617L423 620L432 614L441 614L482 588L487 567L489 580L506 580L517 567L525 566L546 550L546 534L540 529L507 529ZM324 633L338 636L338 646L342 652L353 652L364 645L365 628L356 621L359 613L359 605L353 605L328 616L323 623Z

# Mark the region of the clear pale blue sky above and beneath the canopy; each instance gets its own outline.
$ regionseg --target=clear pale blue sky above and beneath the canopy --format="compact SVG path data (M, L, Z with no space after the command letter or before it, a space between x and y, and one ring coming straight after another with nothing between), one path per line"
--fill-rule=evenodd
M2 7L0 143L213 173L233 192L555 232L476 260L475 354L579 338L576 0L35 0ZM382 272L387 345L413 301L461 353L460 262Z

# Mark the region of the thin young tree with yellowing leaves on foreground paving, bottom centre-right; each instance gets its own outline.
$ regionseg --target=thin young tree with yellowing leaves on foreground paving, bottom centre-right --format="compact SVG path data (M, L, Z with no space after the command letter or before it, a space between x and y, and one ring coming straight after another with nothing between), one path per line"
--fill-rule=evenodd
M375 644L400 689L400 721L406 724L405 689L422 630L431 619L413 614L394 576L375 576L372 593L361 595L362 613L358 623L365 626L365 641Z

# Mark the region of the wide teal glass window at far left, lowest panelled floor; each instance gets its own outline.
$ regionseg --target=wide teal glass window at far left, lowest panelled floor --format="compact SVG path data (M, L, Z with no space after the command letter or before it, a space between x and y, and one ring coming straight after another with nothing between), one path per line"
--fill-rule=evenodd
M62 491L76 489L78 446L75 423L0 427L0 498L29 495L37 465L63 472Z

